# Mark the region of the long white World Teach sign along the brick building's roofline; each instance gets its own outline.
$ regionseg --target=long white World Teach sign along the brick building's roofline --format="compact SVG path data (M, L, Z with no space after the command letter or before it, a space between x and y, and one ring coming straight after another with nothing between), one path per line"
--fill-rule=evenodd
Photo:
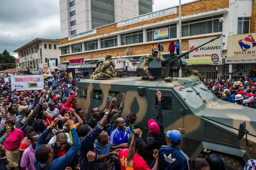
M137 23L137 22L142 22L142 21L146 21L146 20L150 20L150 19L155 19L155 18L167 16L167 15L172 15L172 14L175 14L175 13L177 13L177 7L166 9L166 10L163 10L163 11L153 12L153 13L150 13L150 14L145 14L145 15L139 16L137 18L132 18L132 19L125 20L125 21L122 21L122 22L118 22L117 27L130 25L130 24L134 24L134 23Z

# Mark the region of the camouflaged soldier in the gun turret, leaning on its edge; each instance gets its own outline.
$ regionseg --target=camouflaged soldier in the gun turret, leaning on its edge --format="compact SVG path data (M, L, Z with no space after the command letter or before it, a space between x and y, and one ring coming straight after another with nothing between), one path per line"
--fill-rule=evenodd
M154 77L151 76L149 74L148 68L149 68L149 63L151 60L156 59L156 61L158 62L159 60L161 60L162 62L165 61L165 59L161 56L158 55L159 49L158 48L153 48L152 49L152 53L149 54L147 57L145 57L144 62L143 62L143 70L145 71L145 73L148 75L150 80L153 80Z

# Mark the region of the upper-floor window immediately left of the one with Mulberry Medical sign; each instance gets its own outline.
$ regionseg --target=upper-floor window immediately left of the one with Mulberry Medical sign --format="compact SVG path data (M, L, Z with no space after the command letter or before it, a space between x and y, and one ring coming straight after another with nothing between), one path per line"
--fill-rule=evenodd
M132 33L121 35L121 45L143 43L143 31L135 31Z

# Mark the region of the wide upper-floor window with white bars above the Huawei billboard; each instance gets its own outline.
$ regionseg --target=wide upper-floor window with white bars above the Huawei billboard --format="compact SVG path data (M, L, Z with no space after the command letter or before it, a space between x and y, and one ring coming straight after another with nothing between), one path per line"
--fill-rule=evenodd
M223 14L182 22L182 37L218 33L222 31L219 22Z

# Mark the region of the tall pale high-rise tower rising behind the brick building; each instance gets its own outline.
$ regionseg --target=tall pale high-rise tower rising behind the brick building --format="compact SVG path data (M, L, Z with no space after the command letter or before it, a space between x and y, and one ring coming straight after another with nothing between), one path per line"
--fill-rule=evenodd
M60 0L61 38L152 12L154 0Z

